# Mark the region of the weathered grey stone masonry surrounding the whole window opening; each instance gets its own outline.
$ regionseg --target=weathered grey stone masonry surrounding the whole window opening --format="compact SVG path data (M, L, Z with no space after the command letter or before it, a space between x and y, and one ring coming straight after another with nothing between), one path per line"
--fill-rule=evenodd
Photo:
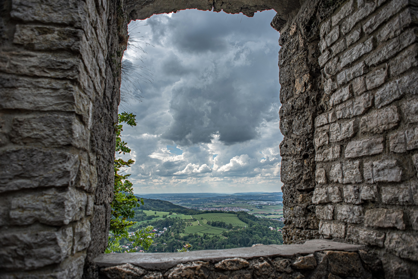
M1 279L417 278L417 0L0 3ZM304 248L103 266L127 23L186 8L277 11L283 249ZM365 248L292 244L315 238Z

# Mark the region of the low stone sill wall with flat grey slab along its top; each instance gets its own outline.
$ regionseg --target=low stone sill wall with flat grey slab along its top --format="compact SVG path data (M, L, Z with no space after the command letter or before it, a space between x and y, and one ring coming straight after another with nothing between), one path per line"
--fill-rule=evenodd
M382 263L358 245L326 240L188 253L118 253L96 259L101 279L381 278Z

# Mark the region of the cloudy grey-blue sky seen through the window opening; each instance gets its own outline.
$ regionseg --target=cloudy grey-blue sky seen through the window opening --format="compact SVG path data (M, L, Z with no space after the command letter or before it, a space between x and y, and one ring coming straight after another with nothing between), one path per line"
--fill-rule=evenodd
M130 23L121 89L143 98L120 105L138 124L123 126L132 151L117 156L135 160L125 173L136 194L281 192L274 15L181 10Z

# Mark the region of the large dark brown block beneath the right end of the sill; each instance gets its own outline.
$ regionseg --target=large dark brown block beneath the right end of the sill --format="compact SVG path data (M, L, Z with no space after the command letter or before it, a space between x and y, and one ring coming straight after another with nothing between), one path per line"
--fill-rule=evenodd
M329 271L339 276L357 276L364 272L359 255L354 252L325 251Z

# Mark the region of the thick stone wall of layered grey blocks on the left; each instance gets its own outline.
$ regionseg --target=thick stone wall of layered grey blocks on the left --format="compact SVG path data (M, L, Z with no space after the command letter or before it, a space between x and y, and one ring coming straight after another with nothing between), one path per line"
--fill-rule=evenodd
M0 3L0 277L89 277L107 246L127 21L119 1Z

